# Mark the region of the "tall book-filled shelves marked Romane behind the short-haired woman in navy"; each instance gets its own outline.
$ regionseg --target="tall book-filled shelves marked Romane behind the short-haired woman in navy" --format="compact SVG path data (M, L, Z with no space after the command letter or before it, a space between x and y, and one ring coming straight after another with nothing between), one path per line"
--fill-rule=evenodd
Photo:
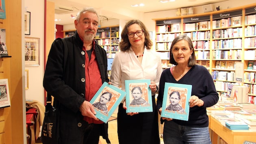
M178 35L191 38L197 64L212 74L219 94L228 85L249 87L249 102L256 103L256 3L209 13L178 16L156 21L156 51L163 68L169 68L169 49ZM243 64L244 78L236 82L235 64ZM247 69L248 65L252 69Z

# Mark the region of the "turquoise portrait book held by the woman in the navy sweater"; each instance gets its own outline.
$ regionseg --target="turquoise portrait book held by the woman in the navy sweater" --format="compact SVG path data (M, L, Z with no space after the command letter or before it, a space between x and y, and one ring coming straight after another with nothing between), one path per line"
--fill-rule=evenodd
M189 120L192 85L165 83L161 117Z

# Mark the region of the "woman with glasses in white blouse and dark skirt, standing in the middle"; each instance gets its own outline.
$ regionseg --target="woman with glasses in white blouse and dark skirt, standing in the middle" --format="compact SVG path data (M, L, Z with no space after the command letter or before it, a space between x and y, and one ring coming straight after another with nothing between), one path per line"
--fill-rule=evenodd
M160 144L155 93L162 73L160 56L151 51L152 42L139 20L126 23L121 33L120 52L111 69L111 84L125 91L125 80L150 79L153 112L126 113L126 101L119 105L117 133L119 144Z

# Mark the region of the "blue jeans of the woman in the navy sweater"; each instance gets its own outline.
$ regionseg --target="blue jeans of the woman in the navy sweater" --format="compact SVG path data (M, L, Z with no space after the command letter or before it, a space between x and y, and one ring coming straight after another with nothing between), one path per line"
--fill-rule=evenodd
M163 129L165 144L211 144L208 127L188 127L174 121L165 121Z

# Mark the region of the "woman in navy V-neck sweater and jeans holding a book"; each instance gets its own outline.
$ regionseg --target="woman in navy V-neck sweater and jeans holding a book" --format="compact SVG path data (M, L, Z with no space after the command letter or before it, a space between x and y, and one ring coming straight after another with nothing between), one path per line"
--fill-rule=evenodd
M163 71L159 83L157 108L160 114L165 83L192 85L192 91L188 121L161 117L161 122L165 122L164 143L211 144L206 108L215 105L219 96L208 70L204 66L196 65L193 43L188 36L174 38L170 49L170 63L175 66Z

